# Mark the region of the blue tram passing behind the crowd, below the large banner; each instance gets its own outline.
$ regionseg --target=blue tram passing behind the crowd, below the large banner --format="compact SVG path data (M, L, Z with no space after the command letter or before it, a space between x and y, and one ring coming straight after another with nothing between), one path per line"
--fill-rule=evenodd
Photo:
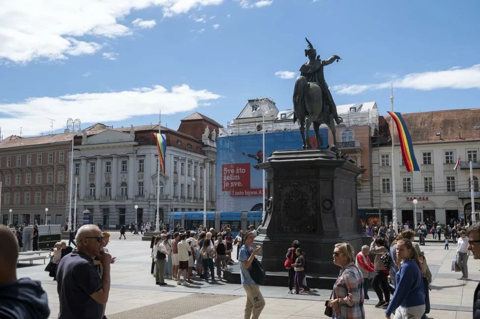
M233 236L237 236L240 229L247 229L250 225L256 228L262 222L262 212L206 212L207 228L219 230L223 225L230 224ZM203 225L203 212L170 212L170 228L180 225L187 230L197 231Z

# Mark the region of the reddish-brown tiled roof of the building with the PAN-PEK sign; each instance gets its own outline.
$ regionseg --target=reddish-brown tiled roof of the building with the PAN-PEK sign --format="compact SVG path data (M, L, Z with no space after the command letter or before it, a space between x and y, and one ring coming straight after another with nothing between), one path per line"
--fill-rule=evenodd
M480 108L406 113L402 117L414 144L480 140L480 131L474 129L480 125ZM380 137L391 136L390 125L390 116L379 116ZM396 126L394 130L398 143ZM436 132L441 132L441 136L436 136Z

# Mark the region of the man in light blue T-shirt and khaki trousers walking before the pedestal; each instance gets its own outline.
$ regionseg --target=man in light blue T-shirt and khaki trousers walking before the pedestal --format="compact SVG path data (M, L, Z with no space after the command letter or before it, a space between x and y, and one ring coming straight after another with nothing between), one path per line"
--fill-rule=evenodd
M255 229L253 229L255 231ZM240 264L240 278L241 285L246 293L246 305L244 318L258 319L265 307L265 299L263 299L260 292L260 286L253 280L252 263L255 260L255 255L260 252L260 246L255 249L251 247L255 235L252 231L247 231L243 235L243 246L240 248L239 264ZM258 263L258 261L256 261Z

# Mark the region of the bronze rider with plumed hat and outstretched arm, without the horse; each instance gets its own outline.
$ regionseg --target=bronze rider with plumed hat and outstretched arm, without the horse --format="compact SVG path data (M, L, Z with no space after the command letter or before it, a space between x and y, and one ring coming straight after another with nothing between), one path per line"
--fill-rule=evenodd
M305 49L305 56L308 56L308 62L301 66L300 75L304 76L308 82L316 83L320 88L322 88L324 105L327 106L325 111L327 112L327 115L332 114L336 124L339 125L342 120L336 113L336 105L332 97L332 93L330 93L327 82L325 82L323 67L325 65L332 64L335 60L338 62L340 57L338 55L333 55L328 60L321 60L320 55L317 56L317 50L313 48L310 41L308 41L307 38L305 38L305 40L307 40L308 43L308 48Z

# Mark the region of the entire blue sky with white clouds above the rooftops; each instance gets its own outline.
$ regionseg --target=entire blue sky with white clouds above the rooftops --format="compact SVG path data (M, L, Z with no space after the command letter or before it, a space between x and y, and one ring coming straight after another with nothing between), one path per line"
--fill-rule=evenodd
M325 68L336 104L386 114L393 82L399 112L478 107L477 1L25 2L0 0L3 137L48 133L46 117L62 132L69 117L156 123L161 108L177 129L194 111L226 126L257 96L291 108L305 36L342 58Z

